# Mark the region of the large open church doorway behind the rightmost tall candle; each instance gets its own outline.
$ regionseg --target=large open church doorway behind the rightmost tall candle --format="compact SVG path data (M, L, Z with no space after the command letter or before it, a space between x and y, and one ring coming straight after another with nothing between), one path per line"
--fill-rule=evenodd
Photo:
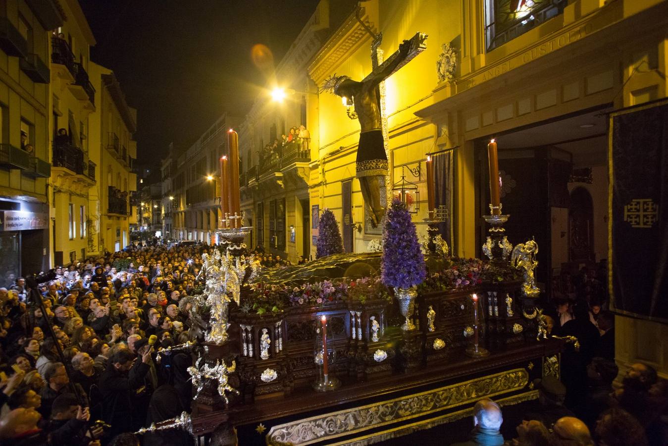
M513 245L532 237L538 243L536 279L548 298L575 297L568 277L599 269L607 259L609 110L583 110L476 140L478 214L489 214L487 143L496 138L502 213L510 215L506 234ZM478 221L480 247L488 227Z

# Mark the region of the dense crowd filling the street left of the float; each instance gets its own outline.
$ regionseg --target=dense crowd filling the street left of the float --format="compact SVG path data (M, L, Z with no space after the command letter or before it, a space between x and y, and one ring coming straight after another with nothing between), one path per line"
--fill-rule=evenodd
M0 443L138 445L190 412L192 308L208 245L133 247L0 288ZM55 338L51 336L55 335ZM143 445L188 445L171 431Z

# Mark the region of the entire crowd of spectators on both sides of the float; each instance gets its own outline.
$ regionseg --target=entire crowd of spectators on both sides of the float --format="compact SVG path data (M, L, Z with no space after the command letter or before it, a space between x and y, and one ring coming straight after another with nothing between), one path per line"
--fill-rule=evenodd
M161 348L196 339L192 296L202 286L202 254L215 247L134 247L57 267L36 280L7 277L0 288L0 441L3 445L138 445L134 432L190 411L187 352ZM254 251L265 267L281 257ZM300 262L301 263L301 262ZM614 317L605 303L546 304L546 330L574 336L562 353L560 376L535 380L538 400L504 438L502 409L490 400L474 408L467 445L665 445L668 385L647 364L619 374ZM506 429L506 437L509 437ZM183 431L150 433L143 445L189 445Z

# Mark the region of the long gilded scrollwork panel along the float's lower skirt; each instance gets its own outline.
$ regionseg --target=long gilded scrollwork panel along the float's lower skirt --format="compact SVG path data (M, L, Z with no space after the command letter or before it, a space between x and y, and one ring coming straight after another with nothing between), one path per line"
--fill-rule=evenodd
M518 391L528 384L528 377L524 368L516 368L407 397L291 421L272 427L267 434L267 444L308 445L329 442L341 435L472 404L484 397Z

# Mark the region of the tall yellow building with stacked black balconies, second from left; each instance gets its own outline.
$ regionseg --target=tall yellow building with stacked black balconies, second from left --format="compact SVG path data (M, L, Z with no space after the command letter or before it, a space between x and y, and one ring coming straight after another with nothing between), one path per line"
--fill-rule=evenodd
M88 255L89 192L98 175L91 155L99 146L88 138L89 118L96 111L89 74L95 38L77 1L59 4L67 20L50 38L52 264L67 265Z

